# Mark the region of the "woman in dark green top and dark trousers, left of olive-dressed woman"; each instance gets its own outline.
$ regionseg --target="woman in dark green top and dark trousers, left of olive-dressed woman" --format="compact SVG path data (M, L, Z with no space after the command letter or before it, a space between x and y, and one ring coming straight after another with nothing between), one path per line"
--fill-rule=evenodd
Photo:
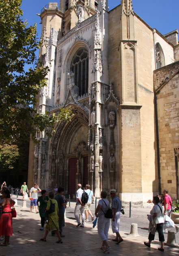
M41 191L41 196L37 200L37 205L39 207L39 214L41 217L41 228L40 230L44 230L44 225L45 225L45 210L47 208L47 202L49 198L46 195L46 190ZM40 206L39 206L40 203Z

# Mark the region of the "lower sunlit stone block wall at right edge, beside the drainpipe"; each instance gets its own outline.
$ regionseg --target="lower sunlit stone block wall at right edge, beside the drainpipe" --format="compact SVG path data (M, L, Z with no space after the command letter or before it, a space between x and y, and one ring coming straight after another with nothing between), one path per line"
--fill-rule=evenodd
M177 197L177 173L174 148L179 147L179 61L156 69L154 89L157 92L161 190ZM158 91L157 91L158 90Z

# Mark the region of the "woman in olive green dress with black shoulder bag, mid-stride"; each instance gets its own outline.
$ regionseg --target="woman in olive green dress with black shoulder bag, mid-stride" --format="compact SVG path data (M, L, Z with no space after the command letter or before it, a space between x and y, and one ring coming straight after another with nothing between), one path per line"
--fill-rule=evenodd
M47 237L48 232L52 231L52 230L55 230L55 233L58 236L58 241L56 241L56 243L63 243L62 239L61 239L61 236L60 236L60 233L59 233L58 203L54 199L54 192L50 191L48 193L48 196L49 196L50 200L48 200L46 210L50 209L50 204L52 202L52 204L55 204L55 211L53 213L48 214L48 221L47 221L47 225L45 226L45 235L43 236L43 238L41 238L41 241L46 241L46 237Z

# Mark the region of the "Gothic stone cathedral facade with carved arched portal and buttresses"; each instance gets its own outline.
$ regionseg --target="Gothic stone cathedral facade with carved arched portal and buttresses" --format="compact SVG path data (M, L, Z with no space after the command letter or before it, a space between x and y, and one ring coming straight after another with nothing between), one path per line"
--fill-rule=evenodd
M166 153L160 152L157 116L169 102L156 108L163 80L154 70L179 65L178 31L161 35L134 12L132 0L111 11L108 0L60 0L40 17L39 56L50 71L39 113L67 108L73 116L56 124L51 138L41 132L36 145L31 141L28 186L62 186L72 197L78 183L89 183L97 197L115 188L124 203L136 205L164 188L176 198L176 165L162 176ZM177 82L179 98L176 88Z

